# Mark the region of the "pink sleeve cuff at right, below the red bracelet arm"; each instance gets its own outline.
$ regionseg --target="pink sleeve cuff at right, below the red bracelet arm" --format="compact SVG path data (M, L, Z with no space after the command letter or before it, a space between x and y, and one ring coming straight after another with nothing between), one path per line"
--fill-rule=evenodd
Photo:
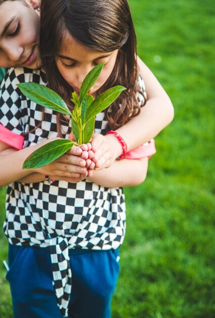
M137 147L131 151L126 152L126 159L140 159L144 157L150 158L153 154L155 154L155 143L154 139L151 139L149 142L144 145Z

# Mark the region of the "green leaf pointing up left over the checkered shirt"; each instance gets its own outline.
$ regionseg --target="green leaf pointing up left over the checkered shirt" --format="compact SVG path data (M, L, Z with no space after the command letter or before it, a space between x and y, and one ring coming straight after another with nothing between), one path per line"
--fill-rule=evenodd
M20 83L17 86L34 103L71 116L66 103L54 90L37 83Z

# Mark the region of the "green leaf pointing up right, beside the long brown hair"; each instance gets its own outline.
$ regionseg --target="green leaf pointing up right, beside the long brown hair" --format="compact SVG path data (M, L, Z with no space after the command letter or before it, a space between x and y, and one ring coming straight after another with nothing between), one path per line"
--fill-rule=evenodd
M117 99L119 94L125 89L125 87L118 85L104 91L99 97L97 97L97 99L93 101L91 107L86 111L85 122L88 122L91 120L91 118L95 117L105 108L110 106L110 104L112 104Z

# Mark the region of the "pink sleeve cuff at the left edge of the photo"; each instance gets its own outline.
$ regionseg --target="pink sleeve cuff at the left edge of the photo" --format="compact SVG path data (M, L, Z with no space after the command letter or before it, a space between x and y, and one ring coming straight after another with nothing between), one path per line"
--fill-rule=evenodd
M0 141L11 147L21 150L23 147L24 137L11 132L8 128L0 124Z

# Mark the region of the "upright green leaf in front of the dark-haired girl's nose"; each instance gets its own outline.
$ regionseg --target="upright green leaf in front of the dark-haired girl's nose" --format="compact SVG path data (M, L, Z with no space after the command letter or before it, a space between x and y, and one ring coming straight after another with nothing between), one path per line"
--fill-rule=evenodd
M102 68L105 65L105 63L100 63L97 66L95 66L88 75L84 78L81 87L80 87L80 95L79 95L79 105L81 105L82 101L84 100L85 96L87 96L87 93L91 89L91 87L96 83L99 75L102 72Z

